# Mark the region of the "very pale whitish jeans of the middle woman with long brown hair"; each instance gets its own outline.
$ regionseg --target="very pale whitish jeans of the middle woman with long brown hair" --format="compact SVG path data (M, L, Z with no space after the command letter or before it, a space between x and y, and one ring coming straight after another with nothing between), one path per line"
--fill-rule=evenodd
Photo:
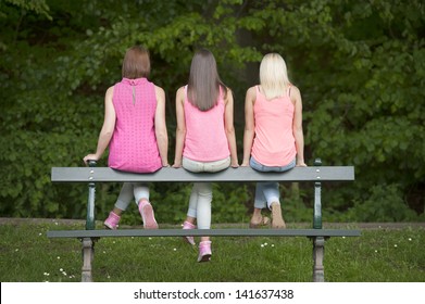
M183 157L183 167L189 172L221 172L230 166L230 157L216 162L197 162ZM212 183L193 182L187 215L197 218L198 229L211 228Z

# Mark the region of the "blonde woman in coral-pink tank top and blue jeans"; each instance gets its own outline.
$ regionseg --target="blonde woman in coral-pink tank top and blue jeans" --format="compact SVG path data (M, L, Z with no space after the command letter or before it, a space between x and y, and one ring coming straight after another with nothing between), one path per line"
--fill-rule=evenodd
M260 86L248 89L245 103L243 161L260 172L285 172L304 163L302 101L289 83L286 63L277 53L260 65ZM251 228L267 225L262 208L272 211L272 227L285 228L277 182L258 182Z

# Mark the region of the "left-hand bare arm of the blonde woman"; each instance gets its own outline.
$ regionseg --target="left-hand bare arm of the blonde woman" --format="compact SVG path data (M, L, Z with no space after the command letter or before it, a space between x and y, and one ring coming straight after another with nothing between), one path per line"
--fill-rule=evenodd
M255 98L255 88L249 88L245 98L243 160L241 166L249 166L249 160L251 156L252 142L255 135L253 112Z

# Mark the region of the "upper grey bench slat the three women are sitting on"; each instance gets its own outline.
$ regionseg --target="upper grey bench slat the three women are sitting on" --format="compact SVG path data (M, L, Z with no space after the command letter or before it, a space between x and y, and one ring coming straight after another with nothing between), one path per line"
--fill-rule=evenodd
M109 167L53 167L55 182L88 181L350 181L354 180L353 166L295 167L285 173L260 173L250 167L228 168L218 173L190 173L184 168L162 168L152 174L135 174Z

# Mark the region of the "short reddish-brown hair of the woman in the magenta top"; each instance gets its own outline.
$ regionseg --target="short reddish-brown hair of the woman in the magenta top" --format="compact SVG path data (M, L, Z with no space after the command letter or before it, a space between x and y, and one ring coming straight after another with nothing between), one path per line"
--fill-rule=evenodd
M123 78L147 78L149 73L150 60L148 50L138 46L129 48L123 61Z

